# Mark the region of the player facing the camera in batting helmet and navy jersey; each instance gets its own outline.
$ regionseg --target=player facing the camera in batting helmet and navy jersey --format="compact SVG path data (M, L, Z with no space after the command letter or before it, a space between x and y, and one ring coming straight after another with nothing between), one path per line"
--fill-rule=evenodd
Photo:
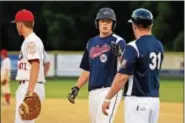
M78 91L87 81L89 91L89 113L91 123L112 123L115 112L122 98L122 91L113 97L109 115L103 115L101 105L117 73L119 57L126 43L123 38L113 33L116 26L116 15L110 8L99 10L95 20L99 35L91 38L86 45L80 68L83 69L76 85L68 95L71 103Z

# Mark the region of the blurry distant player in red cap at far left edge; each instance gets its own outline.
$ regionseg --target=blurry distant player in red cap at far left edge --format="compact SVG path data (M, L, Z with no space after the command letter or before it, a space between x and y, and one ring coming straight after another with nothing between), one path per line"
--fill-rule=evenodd
M8 51L5 49L1 50L1 91L4 96L5 105L10 104L10 76L11 76L11 60L8 57Z

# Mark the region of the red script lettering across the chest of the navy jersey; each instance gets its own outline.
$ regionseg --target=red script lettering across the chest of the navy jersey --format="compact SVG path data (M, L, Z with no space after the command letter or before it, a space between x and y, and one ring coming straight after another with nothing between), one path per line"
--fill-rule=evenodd
M104 45L101 46L101 47L100 47L99 45L97 45L97 46L92 47L92 48L90 49L90 57L91 57L92 59L94 59L94 58L100 56L101 54L103 54L103 53L109 51L110 49L111 49L110 46L107 45L107 44L104 44Z

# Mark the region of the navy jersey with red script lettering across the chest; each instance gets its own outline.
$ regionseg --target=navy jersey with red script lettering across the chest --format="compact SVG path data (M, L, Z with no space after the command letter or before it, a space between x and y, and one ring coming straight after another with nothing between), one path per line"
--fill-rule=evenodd
M117 56L112 51L112 43L116 43L123 51L126 42L116 34L101 38L96 36L86 45L80 68L90 72L88 90L110 87L118 71Z

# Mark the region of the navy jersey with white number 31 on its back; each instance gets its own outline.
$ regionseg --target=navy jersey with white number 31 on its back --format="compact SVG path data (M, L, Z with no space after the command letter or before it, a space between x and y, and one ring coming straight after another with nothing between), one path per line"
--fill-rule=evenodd
M159 74L164 50L152 35L130 42L123 53L119 73L130 75L125 96L159 97Z

